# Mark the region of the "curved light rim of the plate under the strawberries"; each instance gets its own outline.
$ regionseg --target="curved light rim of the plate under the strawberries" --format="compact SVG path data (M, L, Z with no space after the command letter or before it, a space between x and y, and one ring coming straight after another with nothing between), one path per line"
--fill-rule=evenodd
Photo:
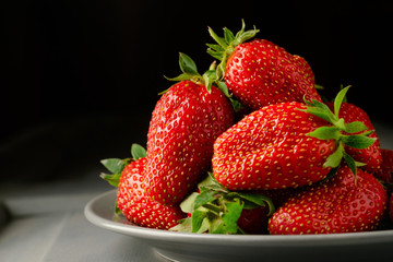
M140 227L138 225L124 224L108 219L97 214L95 209L108 209L100 206L108 198L116 199L117 189L100 193L93 198L84 207L84 215L92 224L122 235L131 237L154 240L154 241L172 241L202 245L222 245L222 246L342 246L342 245L370 245L379 242L392 242L393 230L374 230L362 233L344 233L344 234L320 234L320 235L211 235L211 234L193 234L178 233L163 229L153 229Z

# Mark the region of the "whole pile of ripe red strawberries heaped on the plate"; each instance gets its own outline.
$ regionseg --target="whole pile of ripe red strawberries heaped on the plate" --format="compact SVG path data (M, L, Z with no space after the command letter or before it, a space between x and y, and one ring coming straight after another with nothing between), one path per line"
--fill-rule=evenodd
M219 63L182 73L152 114L147 150L102 163L118 187L117 212L144 227L211 234L332 234L393 221L393 151L368 115L324 103L307 61L258 29L224 37ZM318 86L318 85L317 85Z

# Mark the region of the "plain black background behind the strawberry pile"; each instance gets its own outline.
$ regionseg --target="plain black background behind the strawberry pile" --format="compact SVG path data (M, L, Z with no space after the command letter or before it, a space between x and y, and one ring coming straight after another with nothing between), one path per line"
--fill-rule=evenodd
M0 157L9 179L70 175L145 145L157 94L171 85L164 75L180 72L179 51L206 70L207 26L236 32L241 19L305 57L323 95L352 84L349 102L393 123L390 1L7 2Z

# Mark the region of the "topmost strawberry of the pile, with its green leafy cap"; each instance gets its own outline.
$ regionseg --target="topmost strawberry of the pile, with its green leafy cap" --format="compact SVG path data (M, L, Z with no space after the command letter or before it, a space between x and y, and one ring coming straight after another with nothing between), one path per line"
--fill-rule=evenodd
M307 61L266 40L252 38L259 31L245 32L245 23L234 35L224 28L225 38L209 29L218 45L207 52L221 60L217 75L243 105L254 110L276 103L321 100L314 75Z

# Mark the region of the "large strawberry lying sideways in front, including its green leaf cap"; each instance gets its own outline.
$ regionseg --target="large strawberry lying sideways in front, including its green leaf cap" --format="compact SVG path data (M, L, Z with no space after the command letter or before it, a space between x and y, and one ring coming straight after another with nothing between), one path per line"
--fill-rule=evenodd
M318 100L270 105L248 115L214 143L216 180L229 190L297 188L334 172L342 158L356 172L362 164L344 145L364 148L374 139L364 123L337 117L347 91L335 99L336 115Z

